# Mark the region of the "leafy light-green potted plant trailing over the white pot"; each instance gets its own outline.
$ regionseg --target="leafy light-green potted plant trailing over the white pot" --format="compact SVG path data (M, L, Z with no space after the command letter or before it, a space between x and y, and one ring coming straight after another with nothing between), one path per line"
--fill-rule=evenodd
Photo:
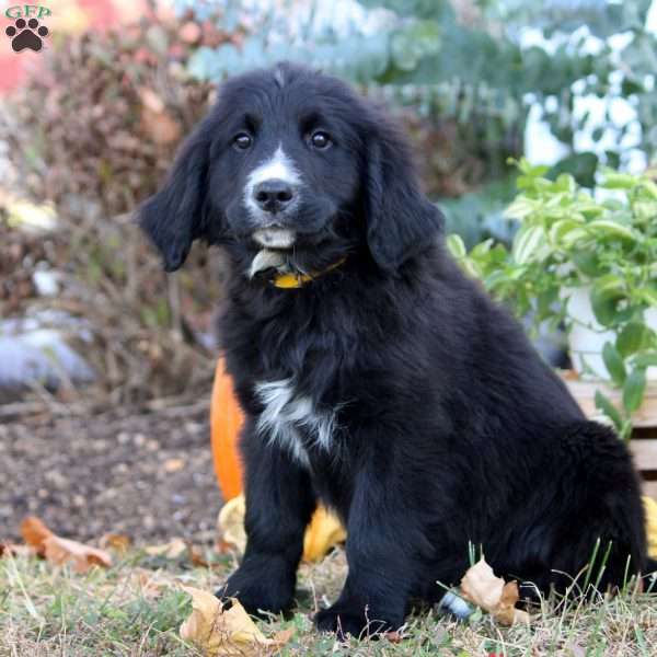
M457 235L448 245L495 297L537 324L573 328L580 321L572 295L588 291L596 321L586 327L606 337L604 367L623 392L620 408L600 391L596 404L626 438L646 370L657 366L657 333L646 318L657 309L657 184L647 173L607 170L590 194L572 175L552 181L546 168L517 165L519 194L506 211L520 222L511 250L488 240L466 253Z

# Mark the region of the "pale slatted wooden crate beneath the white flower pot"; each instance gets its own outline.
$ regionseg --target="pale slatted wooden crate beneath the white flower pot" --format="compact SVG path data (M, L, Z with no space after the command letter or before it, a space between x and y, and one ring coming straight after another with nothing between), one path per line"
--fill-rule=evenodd
M596 408L596 390L603 392L614 404L621 403L622 392L606 383L580 381L564 377L570 393L591 419L599 419ZM634 414L634 433L630 450L638 469L646 495L657 499L657 383L649 383L641 408Z

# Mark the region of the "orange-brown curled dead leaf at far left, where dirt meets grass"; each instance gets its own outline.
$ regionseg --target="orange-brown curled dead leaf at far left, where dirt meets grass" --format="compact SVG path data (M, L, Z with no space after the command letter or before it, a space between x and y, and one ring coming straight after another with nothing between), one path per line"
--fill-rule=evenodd
M77 573L87 573L92 566L112 565L112 557L104 550L62 539L34 516L21 522L21 533L27 545L32 545L39 556L55 566L70 563Z

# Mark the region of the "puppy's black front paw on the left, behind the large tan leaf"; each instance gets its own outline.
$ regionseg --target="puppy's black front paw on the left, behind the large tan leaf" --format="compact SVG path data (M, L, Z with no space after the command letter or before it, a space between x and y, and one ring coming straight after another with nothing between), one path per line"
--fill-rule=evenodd
M237 598L252 615L263 612L281 613L293 602L293 583L281 583L274 577L253 577L237 570L215 593L217 598Z

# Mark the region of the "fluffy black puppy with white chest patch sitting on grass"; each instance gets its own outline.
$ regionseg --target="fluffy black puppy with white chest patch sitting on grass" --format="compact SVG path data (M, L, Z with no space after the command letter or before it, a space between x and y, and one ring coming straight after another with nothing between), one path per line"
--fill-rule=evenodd
M168 270L195 239L232 263L249 542L221 595L289 608L319 500L349 564L321 630L399 627L459 581L469 543L544 590L599 539L602 588L645 569L625 447L448 256L408 147L346 84L291 65L230 80L140 212Z

